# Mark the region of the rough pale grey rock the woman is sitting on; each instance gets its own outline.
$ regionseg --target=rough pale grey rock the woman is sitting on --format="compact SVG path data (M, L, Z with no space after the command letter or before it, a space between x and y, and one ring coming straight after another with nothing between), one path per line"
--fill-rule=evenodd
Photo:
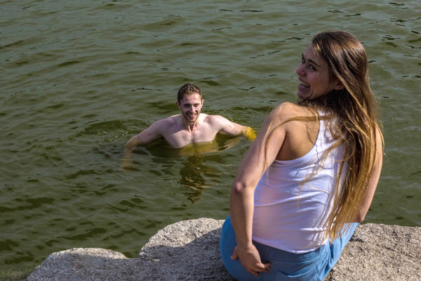
M108 249L59 251L27 281L233 280L219 254L222 223L213 218L173 223L151 237L136 259ZM360 225L325 281L421 280L420 245L420 227Z

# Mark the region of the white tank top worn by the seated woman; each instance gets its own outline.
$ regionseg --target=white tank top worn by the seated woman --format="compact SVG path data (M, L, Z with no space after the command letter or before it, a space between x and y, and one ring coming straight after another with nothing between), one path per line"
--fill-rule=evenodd
M343 157L340 146L322 163L323 152L333 143L328 126L321 121L312 150L269 166L255 189L253 240L296 254L326 243L326 221ZM345 165L341 181L346 169Z

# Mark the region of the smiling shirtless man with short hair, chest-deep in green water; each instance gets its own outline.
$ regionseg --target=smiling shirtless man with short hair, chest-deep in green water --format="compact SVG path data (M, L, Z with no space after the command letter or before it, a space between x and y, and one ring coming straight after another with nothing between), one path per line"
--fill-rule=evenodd
M204 100L198 86L185 84L178 90L177 107L181 114L161 119L136 136L125 147L125 152L132 152L138 145L147 145L164 138L173 148L183 148L192 143L213 141L218 133L229 136L243 134L253 141L255 131L229 121L220 115L201 113Z

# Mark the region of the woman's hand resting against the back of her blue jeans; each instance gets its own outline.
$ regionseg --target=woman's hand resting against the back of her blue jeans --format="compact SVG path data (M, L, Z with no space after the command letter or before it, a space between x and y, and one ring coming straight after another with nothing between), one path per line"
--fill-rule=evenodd
M270 263L262 263L260 261L259 251L253 244L248 249L236 246L231 259L240 259L241 265L255 276L259 276L260 272L267 273L270 268Z

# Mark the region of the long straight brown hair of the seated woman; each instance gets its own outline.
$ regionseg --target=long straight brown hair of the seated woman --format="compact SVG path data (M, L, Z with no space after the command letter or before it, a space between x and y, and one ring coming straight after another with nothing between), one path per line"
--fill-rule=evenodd
M338 140L330 150L339 145L345 148L342 161L342 166L345 163L347 166L345 181L341 183L338 175L326 233L335 240L347 230L347 223L354 222L370 181L377 149L376 131L380 133L377 100L370 89L366 51L352 34L322 32L314 36L312 47L328 63L330 76L344 86L320 98L298 102L327 112L326 117L335 120L330 122L330 131Z

